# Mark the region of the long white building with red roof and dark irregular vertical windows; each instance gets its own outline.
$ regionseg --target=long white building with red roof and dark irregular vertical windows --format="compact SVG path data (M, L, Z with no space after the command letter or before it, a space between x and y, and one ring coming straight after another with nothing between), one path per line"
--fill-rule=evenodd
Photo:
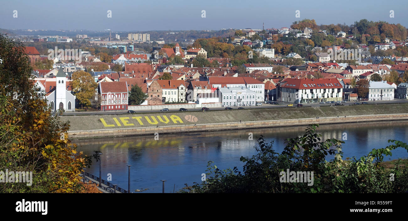
M286 78L277 88L278 100L289 103L341 101L343 86L336 78Z

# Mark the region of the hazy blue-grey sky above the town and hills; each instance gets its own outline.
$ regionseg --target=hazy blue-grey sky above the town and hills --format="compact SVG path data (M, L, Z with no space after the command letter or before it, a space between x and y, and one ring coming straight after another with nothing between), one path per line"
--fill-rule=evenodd
M0 0L0 28L150 31L289 27L295 20L353 24L366 18L408 27L408 1L384 0ZM17 10L17 18L13 11ZM107 18L107 11L112 18ZM202 18L202 10L206 18ZM300 18L295 11L300 11ZM390 18L394 10L394 18Z

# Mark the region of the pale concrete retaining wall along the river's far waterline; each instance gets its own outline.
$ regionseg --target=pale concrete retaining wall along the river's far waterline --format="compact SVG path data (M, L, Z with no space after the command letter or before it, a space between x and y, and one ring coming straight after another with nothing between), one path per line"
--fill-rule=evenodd
M81 137L115 137L129 135L152 135L154 133L186 133L206 130L235 130L244 128L265 128L265 127L283 127L283 126L301 126L309 124L340 124L350 122L371 122L371 121L390 121L407 120L408 114L389 114L389 115L361 115L347 117L321 117L305 119L283 119L254 122L232 122L222 124L197 124L197 125L178 125L178 126L160 126L144 128L118 128L106 130L81 130L69 131L69 136L75 138Z

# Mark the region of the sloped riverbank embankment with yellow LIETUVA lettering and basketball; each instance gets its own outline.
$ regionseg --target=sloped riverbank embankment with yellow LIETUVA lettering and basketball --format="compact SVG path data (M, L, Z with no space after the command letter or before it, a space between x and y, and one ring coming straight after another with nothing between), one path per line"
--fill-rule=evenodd
M361 113L364 113L364 115L361 115ZM62 117L62 119L70 122L69 136L73 139L80 139L86 137L118 137L309 124L406 120L408 119L408 104L142 113L133 115L75 116Z

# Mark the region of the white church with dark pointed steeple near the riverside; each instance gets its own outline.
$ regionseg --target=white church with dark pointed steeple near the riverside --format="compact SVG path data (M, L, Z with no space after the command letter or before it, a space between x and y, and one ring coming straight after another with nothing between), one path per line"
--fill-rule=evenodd
M64 109L65 111L75 111L75 95L71 93L67 74L60 67L56 77L36 79L35 85L45 94L47 104L51 105L51 110Z

